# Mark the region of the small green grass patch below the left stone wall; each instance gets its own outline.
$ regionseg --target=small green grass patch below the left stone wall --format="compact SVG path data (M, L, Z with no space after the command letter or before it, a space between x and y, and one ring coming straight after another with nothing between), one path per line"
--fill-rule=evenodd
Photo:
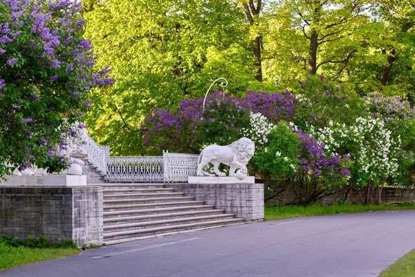
M42 262L43 260L53 260L77 253L80 253L79 249L8 247L5 243L0 242L0 270L33 262Z

